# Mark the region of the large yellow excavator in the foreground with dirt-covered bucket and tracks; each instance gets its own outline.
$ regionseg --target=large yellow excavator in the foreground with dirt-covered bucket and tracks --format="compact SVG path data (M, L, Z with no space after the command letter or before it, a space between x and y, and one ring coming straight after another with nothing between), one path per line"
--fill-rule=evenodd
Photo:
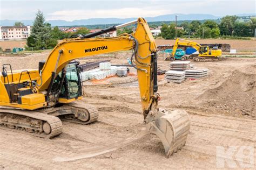
M137 24L132 34L93 38ZM60 42L38 69L12 70L3 65L0 74L0 128L51 138L62 133L62 121L80 124L95 122L98 110L79 101L83 98L78 62L92 55L132 50L137 69L144 123L164 145L166 156L186 143L190 121L186 111L158 108L157 47L143 18ZM125 121L125 120L124 120ZM86 127L85 127L86 128Z

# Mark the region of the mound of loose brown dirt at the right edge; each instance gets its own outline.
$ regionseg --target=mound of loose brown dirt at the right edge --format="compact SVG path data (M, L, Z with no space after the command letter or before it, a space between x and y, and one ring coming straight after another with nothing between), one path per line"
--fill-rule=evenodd
M231 114L256 117L256 74L235 70L219 87L199 96L204 103Z

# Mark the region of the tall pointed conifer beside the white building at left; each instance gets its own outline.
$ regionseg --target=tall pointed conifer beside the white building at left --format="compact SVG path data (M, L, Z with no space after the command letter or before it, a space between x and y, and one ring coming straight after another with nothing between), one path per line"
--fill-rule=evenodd
M57 45L57 40L52 38L51 24L45 23L43 12L39 10L36 13L31 36L35 40L35 43L30 45L32 45L32 47L35 47L34 49L52 48Z

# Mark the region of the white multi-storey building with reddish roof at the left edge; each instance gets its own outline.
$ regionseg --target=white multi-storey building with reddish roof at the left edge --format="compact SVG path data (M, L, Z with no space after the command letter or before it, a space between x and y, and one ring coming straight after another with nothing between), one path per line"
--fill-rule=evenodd
M30 26L0 26L0 39L26 39L30 36Z

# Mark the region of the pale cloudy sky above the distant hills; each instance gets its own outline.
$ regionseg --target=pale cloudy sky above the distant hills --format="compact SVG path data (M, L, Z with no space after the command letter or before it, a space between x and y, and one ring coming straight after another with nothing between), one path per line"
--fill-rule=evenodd
M256 13L255 0L0 0L0 20L34 19L38 10L46 20L156 17L173 13L203 13L222 17Z

